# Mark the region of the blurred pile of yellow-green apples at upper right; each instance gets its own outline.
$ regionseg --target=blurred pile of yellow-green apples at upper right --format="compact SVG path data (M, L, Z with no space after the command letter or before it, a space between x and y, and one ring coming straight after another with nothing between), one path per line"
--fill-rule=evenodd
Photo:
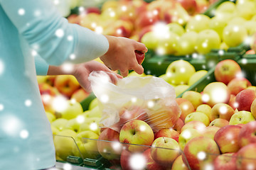
M225 1L210 18L196 14L186 25L159 23L141 41L159 55L205 55L212 49L227 50L242 42L250 44L256 32L256 1ZM255 44L255 43L254 43Z

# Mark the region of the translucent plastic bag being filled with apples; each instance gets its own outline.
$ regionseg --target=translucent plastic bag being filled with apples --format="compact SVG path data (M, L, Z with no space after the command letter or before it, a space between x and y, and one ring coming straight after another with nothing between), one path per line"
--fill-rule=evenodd
M159 77L125 77L117 84L105 72L92 72L92 91L102 111L101 128L119 132L129 120L144 120L154 132L172 128L181 115L174 87Z

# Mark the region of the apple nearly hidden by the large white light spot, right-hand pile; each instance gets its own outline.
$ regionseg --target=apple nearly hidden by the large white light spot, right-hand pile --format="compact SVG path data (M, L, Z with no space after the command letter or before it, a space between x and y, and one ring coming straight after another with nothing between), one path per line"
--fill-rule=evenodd
M212 82L203 89L202 100L213 107L217 103L228 103L230 91L223 82Z

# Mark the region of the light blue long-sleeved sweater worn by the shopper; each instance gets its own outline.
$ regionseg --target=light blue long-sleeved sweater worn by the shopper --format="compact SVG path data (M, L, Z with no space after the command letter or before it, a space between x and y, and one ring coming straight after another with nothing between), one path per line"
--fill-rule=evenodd
M0 169L55 164L36 73L45 75L48 64L93 60L108 47L105 36L68 23L51 0L0 0Z

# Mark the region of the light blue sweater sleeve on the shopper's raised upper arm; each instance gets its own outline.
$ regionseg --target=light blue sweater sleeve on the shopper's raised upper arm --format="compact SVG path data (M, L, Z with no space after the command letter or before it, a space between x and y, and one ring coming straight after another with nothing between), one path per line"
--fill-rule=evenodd
M104 35L68 23L51 0L0 0L6 15L28 45L48 64L87 62L107 52Z

